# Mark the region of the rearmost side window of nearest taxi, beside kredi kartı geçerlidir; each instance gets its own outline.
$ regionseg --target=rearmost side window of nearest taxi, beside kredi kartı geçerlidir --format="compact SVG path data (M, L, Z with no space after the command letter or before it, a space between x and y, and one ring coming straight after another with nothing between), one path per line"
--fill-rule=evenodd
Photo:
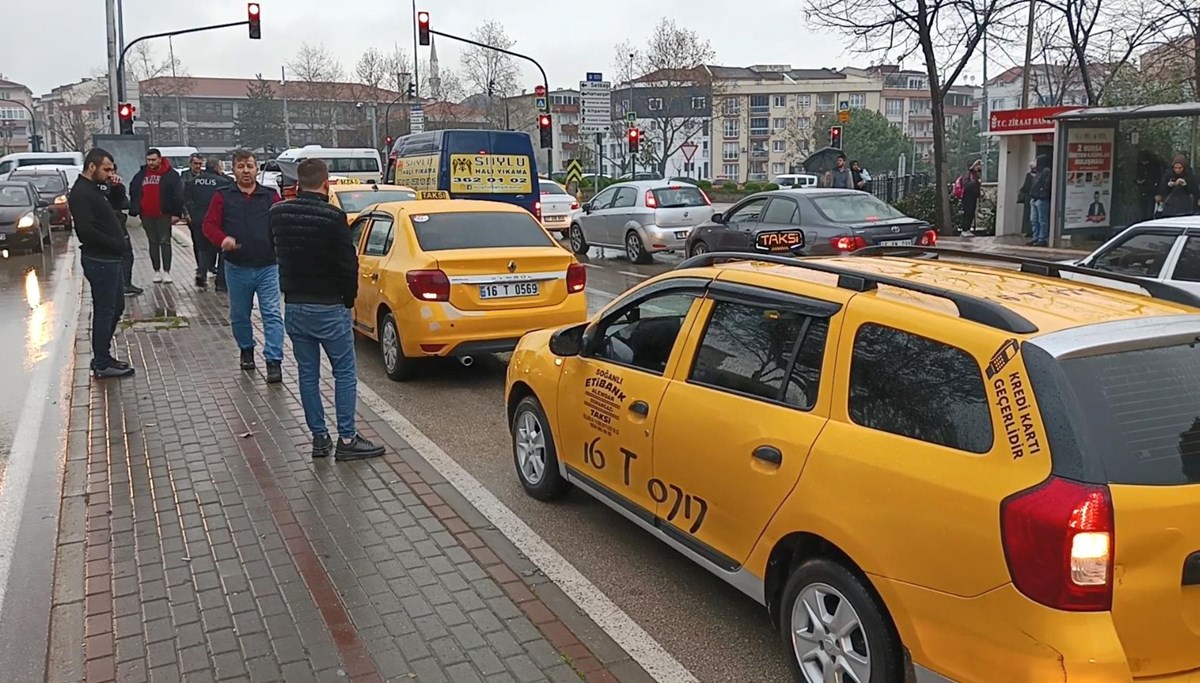
M858 425L970 453L992 444L983 375L967 352L865 324L850 364L850 419Z

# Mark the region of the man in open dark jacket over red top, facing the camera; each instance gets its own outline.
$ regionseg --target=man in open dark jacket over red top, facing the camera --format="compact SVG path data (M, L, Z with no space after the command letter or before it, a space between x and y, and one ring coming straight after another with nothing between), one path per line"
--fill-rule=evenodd
M142 217L150 242L154 281L170 283L170 226L184 215L184 182L155 148L130 182L130 215Z

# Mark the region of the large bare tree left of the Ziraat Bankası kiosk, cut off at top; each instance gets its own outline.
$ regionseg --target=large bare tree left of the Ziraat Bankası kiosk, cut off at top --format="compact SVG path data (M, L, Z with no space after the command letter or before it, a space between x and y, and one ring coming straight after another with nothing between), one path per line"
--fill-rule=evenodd
M934 176L938 222L954 224L946 160L946 96L984 35L1004 29L1019 0L805 0L808 18L884 59L924 61L934 114Z

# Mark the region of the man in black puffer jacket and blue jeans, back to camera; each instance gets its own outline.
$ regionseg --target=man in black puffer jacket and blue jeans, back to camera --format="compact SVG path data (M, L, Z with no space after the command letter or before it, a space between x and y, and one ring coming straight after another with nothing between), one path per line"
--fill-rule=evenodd
M312 432L312 456L334 454L320 399L320 352L334 369L337 408L337 460L383 455L383 447L362 438L354 424L358 365L350 308L359 290L359 257L346 211L329 203L329 167L319 158L296 168L299 193L271 206L270 232L280 262L284 325L300 375L300 402Z

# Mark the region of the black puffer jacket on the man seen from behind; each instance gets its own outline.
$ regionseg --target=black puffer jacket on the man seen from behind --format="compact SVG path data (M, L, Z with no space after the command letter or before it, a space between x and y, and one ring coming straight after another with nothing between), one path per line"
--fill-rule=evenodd
M300 192L271 206L270 233L284 301L354 306L359 257L346 211L324 194Z

